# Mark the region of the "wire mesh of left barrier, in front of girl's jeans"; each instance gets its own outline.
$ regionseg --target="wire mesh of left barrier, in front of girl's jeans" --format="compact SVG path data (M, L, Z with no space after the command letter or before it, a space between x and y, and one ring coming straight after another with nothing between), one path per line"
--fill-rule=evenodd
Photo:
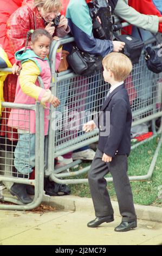
M0 121L0 174L18 178L24 178L26 174L25 178L29 178L32 154L30 110L5 108Z

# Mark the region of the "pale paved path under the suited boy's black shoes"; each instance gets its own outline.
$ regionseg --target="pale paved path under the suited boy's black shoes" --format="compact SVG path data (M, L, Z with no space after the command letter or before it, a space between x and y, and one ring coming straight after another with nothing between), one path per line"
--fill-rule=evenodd
M92 212L54 210L43 214L31 211L0 211L0 245L158 245L162 223L138 221L138 228L118 233L115 217L99 228L88 228Z

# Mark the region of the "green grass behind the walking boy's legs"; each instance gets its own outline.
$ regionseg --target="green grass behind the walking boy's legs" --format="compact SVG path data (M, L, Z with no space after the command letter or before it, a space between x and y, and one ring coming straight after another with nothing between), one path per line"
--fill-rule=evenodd
M128 158L128 175L145 175L150 167L154 151L157 147L159 136L153 138L150 142L140 145L133 149ZM86 167L89 163L82 163L80 168ZM160 149L157 163L151 180L147 181L131 181L133 199L135 204L156 205L162 207L162 199L158 197L158 188L162 185L162 150ZM107 176L110 176L109 174ZM77 176L77 179L87 178L87 174ZM108 182L107 185L112 200L117 200L113 183ZM72 194L80 197L91 197L88 184L70 185ZM162 190L162 188L161 188ZM161 193L162 196L162 193Z

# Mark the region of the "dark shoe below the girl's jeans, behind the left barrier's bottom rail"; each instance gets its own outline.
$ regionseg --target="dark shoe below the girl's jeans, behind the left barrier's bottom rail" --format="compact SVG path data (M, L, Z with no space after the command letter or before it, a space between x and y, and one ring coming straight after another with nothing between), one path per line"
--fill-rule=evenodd
M29 204L33 200L28 196L25 184L14 183L10 188L12 196L16 196L23 204Z

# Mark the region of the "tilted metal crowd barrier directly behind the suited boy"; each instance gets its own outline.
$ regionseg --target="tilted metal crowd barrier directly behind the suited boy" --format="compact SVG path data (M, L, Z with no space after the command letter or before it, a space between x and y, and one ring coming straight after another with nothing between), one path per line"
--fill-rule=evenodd
M50 176L50 179L60 184L88 182L87 179L79 179L78 175L86 173L90 166L65 173L67 168L74 167L81 161L77 160L66 167L55 169L53 159L98 141L98 131L84 133L82 125L91 120L94 114L99 111L108 89L108 84L103 81L102 72L97 72L89 77L77 76L70 69L58 74L55 72L57 48L72 41L74 41L72 37L55 41L50 49L51 90L54 95L59 97L61 105L57 109L51 107L46 174ZM157 44L154 38L145 42L146 45L150 43ZM133 114L132 127L151 121L154 133L152 138L157 135L155 119L162 117L161 85L162 73L154 74L147 69L144 52L142 52L139 63L133 66L131 75L126 80L126 88ZM158 132L161 132L161 127ZM141 143L145 142L146 140ZM159 141L147 175L130 176L130 180L144 180L151 177L161 142L162 139ZM135 147L137 145L132 148ZM72 179L72 176L76 176L76 178ZM112 178L106 180L112 181Z

